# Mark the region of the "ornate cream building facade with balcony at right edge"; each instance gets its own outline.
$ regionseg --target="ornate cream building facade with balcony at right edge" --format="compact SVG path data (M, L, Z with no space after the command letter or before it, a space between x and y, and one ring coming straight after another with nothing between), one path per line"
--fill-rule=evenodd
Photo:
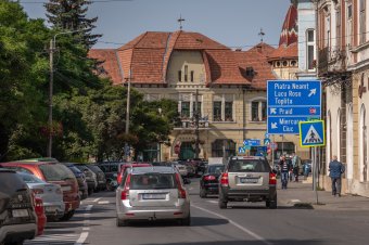
M369 196L367 108L369 39L367 0L321 0L318 14L318 75L326 87L326 162L346 165L344 192ZM322 183L329 189L328 164Z

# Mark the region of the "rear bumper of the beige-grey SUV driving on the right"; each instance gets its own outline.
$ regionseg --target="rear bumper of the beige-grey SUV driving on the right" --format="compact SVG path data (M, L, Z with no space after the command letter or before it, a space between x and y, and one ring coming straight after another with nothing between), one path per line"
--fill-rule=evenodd
M272 199L277 196L276 186L270 186L268 190L232 190L221 186L220 192L222 198L251 202Z

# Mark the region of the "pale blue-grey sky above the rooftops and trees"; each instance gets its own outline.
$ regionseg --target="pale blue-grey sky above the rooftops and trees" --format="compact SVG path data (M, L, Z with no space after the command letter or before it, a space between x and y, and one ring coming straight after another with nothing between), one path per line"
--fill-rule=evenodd
M46 18L42 2L21 0L30 18ZM92 0L93 1L93 0ZM201 33L232 49L247 50L260 41L277 46L290 0L96 0L87 16L98 16L96 49L115 49L145 31Z

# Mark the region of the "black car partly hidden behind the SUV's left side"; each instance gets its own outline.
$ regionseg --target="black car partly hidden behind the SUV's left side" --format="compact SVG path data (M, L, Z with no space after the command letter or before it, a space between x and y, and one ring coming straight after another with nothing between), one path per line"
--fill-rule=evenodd
M205 169L200 180L200 197L204 198L207 194L219 193L219 176L225 170L224 164L212 164Z

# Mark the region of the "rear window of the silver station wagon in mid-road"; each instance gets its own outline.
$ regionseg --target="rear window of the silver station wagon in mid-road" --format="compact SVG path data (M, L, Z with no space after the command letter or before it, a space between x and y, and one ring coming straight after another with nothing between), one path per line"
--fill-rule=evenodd
M150 172L130 177L130 190L175 189L176 186L176 177L173 173Z

